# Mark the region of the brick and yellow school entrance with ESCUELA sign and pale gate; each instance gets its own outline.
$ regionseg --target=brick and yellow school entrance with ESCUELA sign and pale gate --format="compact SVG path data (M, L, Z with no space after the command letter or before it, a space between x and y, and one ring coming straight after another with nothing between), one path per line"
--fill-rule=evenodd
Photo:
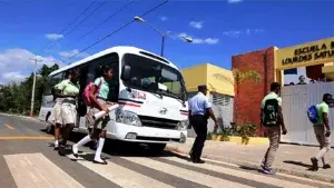
M284 70L305 67L305 77L322 81L282 88L283 113L285 123L289 127L289 133L283 139L287 142L316 144L306 110L311 105L320 102L324 92L334 92L334 83L328 82L334 80L333 62L334 38L282 49L268 47L233 56L233 69L255 70L261 75L259 83L248 80L239 85L239 93L234 106L234 108L238 106L238 117L235 117L235 122L242 123L247 119L259 125L259 103L269 92L271 83L277 81L284 86ZM257 135L262 136L264 128L258 126Z

